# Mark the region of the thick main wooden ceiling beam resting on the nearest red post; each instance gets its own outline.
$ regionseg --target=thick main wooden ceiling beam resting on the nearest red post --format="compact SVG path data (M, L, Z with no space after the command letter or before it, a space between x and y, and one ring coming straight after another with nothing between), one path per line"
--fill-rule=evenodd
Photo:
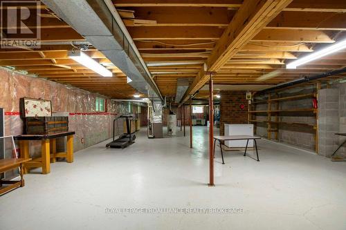
M245 0L235 17L224 31L216 48L208 58L208 71L217 71L253 39L273 18L275 18L292 0ZM206 82L209 76L201 69L188 89L183 102L188 95L195 93Z

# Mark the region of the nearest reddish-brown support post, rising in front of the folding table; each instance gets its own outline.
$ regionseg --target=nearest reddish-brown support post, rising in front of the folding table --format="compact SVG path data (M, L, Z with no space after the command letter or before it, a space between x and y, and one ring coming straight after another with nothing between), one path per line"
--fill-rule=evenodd
M209 80L209 186L214 184L214 154L213 154L213 140L214 140L214 88L212 82L212 75Z

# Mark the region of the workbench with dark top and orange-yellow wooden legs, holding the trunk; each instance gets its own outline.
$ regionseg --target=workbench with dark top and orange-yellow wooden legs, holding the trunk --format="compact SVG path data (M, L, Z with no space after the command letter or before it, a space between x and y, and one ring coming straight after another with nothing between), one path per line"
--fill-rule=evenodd
M64 133L54 133L50 135L19 135L15 136L14 139L19 141L20 154L24 159L29 159L29 142L41 140L41 157L34 160L30 160L24 163L24 173L28 173L30 168L40 168L42 167L42 174L48 174L51 172L51 160L52 163L56 161L57 157L65 157L66 162L73 162L73 135L75 132L64 132ZM67 137L67 149L66 153L57 153L56 152L56 138L58 137ZM52 153L51 153L52 145Z

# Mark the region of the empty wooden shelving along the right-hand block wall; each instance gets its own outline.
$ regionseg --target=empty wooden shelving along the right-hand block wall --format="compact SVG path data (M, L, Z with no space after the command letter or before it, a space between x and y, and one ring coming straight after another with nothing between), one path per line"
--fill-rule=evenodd
M315 134L316 140L316 152L318 151L318 109L312 107L309 108L289 108L289 109L280 109L280 103L285 101L295 101L299 99L312 98L317 97L318 89L320 88L320 84L316 84L316 92L314 93L305 93L300 95L293 95L288 97L280 97L280 93L278 92L270 92L264 95L264 99L259 99L251 103L248 106L248 123L254 124L254 130L257 131L258 123L265 123L267 129L267 137L268 140L278 141L278 132L280 130L280 125L284 126L295 126L295 127L306 127L312 128ZM262 106L262 109L256 110L256 107L260 104L267 104L266 109ZM264 108L264 109L263 109ZM280 117L288 116L290 114L301 114L301 115L309 115L311 117L316 117L316 124L309 124L304 122L287 122L282 121ZM265 117L266 119L257 119L256 116ZM274 135L274 136L273 136Z

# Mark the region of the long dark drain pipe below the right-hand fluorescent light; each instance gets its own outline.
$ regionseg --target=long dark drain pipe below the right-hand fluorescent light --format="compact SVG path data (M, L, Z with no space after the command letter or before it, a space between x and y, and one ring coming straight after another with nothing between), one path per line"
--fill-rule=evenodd
M301 84L301 83L304 83L304 82L311 82L313 80L317 80L317 79L321 79L321 78L325 78L325 77L330 77L330 76L333 76L333 75L338 75L340 73L346 73L346 67L345 68L340 68L338 70L331 70L329 72L321 73L321 74L314 75L314 76L311 76L311 77L302 77L300 79L295 79L295 80L293 80L291 82L284 82L282 84L277 84L276 86L273 86L271 88L266 88L265 90L261 90L258 93L264 93L264 92L268 92L268 91L271 91L271 90L277 90L277 89L280 89L280 88L286 88L286 87L294 86L296 84Z

